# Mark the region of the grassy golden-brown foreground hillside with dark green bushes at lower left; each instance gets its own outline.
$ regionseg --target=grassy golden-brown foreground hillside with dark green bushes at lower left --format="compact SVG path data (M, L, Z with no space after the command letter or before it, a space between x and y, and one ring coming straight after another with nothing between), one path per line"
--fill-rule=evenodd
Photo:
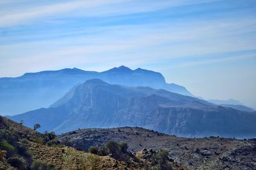
M40 134L0 116L0 169L154 169L159 166L141 152L122 157L99 156L61 145L54 134ZM117 148L116 148L117 149ZM187 168L168 160L167 169Z

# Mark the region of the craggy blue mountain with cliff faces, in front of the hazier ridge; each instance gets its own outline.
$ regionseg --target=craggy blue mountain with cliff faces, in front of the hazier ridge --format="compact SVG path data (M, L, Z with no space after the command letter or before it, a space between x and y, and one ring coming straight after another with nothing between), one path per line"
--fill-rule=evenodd
M49 108L10 117L40 131L68 132L90 127L144 127L185 137L256 137L256 112L216 106L195 97L150 87L88 80Z

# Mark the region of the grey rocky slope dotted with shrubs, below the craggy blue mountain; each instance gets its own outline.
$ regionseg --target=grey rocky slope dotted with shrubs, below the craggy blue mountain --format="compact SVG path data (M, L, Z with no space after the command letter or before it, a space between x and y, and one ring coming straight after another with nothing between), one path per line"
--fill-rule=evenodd
M192 169L256 169L256 139L178 138L136 127L81 129L58 139L85 151L111 139L126 141L132 152L144 150L144 157L164 148L170 159Z

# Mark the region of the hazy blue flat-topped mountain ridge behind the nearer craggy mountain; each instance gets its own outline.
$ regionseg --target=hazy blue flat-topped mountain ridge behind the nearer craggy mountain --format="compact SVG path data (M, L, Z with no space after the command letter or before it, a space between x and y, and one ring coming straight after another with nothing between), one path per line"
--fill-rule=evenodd
M61 69L26 73L17 78L0 78L0 113L15 115L47 107L60 99L74 85L92 78L99 78L112 84L131 87L148 86L192 96L186 88L166 83L161 73L146 69L132 70L125 66L114 67L103 72L84 71L77 68Z

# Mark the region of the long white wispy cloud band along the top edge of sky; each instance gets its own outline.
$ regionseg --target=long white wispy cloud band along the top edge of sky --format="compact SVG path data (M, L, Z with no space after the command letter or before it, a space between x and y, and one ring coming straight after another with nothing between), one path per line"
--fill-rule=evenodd
M28 24L31 20L49 16L58 16L66 14L81 17L99 17L112 15L127 15L131 13L142 13L147 11L156 11L162 8L175 6L184 6L188 4L209 3L213 0L180 0L180 1L133 1L133 0L95 0L95 1L64 1L61 3L44 5L28 4L22 8L6 9L0 8L0 27L12 25ZM2 2L4 4L4 2ZM7 2L6 2L7 3ZM15 6L17 2L8 3L9 6ZM22 3L20 3L22 4Z

